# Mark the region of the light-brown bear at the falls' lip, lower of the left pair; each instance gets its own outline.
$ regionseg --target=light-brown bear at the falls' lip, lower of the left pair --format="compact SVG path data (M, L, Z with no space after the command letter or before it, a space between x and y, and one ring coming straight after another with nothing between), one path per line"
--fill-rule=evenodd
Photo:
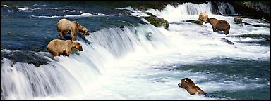
M54 56L66 55L69 56L71 50L83 51L79 42L73 42L71 40L54 39L47 45L47 50Z

